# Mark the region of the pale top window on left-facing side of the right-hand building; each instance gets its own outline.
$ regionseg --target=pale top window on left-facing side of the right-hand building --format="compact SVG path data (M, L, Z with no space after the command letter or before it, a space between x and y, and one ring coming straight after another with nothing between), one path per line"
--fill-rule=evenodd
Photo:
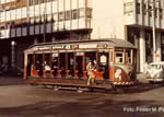
M126 2L124 3L124 13L131 13L133 11L133 3L132 2Z

